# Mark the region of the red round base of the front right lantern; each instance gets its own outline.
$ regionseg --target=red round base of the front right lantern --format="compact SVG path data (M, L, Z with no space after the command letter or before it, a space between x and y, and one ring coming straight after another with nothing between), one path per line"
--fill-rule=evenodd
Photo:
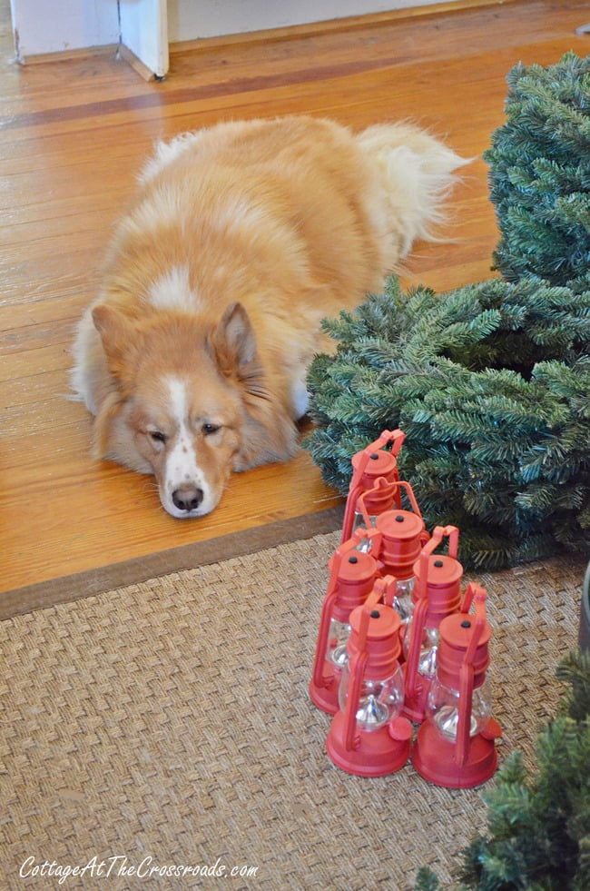
M455 761L456 744L444 739L428 721L418 730L412 752L412 763L418 774L429 783L449 789L468 789L481 786L494 776L497 768L497 751L494 740L501 730L497 721L490 718L483 733L471 737L465 764Z

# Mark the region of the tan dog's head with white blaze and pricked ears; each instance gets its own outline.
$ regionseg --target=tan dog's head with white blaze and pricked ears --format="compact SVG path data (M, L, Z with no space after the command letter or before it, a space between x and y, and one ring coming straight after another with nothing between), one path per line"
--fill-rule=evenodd
M136 321L103 304L93 322L112 377L95 451L152 472L172 517L209 513L231 470L293 453L293 424L240 303L219 322L162 311Z

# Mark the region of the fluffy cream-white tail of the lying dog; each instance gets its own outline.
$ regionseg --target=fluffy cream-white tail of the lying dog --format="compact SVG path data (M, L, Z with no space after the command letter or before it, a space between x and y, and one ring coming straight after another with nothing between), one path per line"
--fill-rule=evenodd
M441 203L456 182L453 173L472 159L459 157L412 124L377 124L356 138L377 165L385 218L375 223L388 234L395 265L416 239L433 239L433 227L445 219Z

